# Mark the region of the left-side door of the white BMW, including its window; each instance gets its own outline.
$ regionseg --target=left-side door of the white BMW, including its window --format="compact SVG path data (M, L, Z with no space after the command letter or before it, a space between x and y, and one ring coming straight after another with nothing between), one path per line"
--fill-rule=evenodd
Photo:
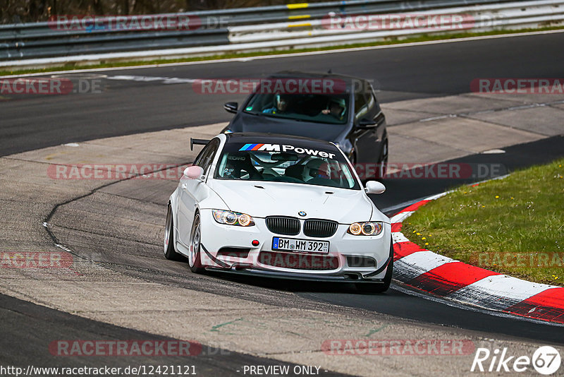
M194 160L194 165L204 169L204 176L212 174L209 171L212 162L219 149L219 139L214 138L202 149L200 154ZM180 201L178 201L178 235L180 241L189 246L190 232L192 231L192 222L196 214L196 205L207 195L208 189L205 179L189 179L183 176L180 179Z

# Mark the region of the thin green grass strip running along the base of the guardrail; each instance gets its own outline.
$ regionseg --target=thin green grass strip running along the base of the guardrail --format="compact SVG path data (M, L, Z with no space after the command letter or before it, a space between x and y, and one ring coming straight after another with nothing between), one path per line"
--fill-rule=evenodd
M482 37L486 35L505 35L505 34L515 34L520 32L539 32L546 30L563 30L564 27L551 27L537 28L537 29L520 29L520 30L491 30L489 32L460 32L455 34L442 34L442 35L420 35L417 37L410 37L406 39L398 39L396 37L391 37L388 40L380 42L370 42L370 43L357 43L357 44L343 44L340 46L330 46L330 47L320 47L320 48L305 48L305 49L284 49L270 52L245 52L245 53L231 53L231 54L219 54L213 56L195 56L183 59L156 59L156 60L146 60L146 61L109 61L102 64L93 65L80 65L76 63L68 63L61 66L49 67L49 68L34 68L34 69L22 69L13 71L0 71L0 76L8 76L14 74L26 74L26 73L49 73L54 71L71 71L74 69L93 69L93 68L111 68L111 67L124 67L124 66L145 66L150 64L170 64L170 63L184 63L190 61L207 61L216 59L237 59L252 56L268 56L268 55L281 55L281 54L292 54L300 52L317 52L317 51L329 51L333 49L348 49L356 47L374 47L374 46L385 46L389 44L404 44L413 42L428 42L434 40L454 40L467 37Z

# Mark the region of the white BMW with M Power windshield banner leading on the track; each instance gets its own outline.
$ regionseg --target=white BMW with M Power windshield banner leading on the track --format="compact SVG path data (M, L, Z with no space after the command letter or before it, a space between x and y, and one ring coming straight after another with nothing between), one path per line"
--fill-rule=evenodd
M333 143L225 133L205 144L168 201L164 255L194 273L223 270L388 289L390 220Z

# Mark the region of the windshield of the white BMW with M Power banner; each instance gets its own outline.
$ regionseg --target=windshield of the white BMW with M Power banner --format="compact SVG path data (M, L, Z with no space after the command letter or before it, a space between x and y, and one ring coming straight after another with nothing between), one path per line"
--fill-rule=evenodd
M227 143L214 178L360 189L347 160L338 150L290 143Z

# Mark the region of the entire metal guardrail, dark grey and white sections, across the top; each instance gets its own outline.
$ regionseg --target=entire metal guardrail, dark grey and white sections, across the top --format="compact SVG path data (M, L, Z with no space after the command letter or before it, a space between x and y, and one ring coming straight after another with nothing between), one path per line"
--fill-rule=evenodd
M97 20L97 28L90 30L66 30L65 23L59 23L59 28L54 27L53 23L0 25L0 66L158 59L163 56L349 44L444 32L398 28L376 31L330 29L322 21L330 12L337 16L470 13L476 19L487 17L497 20L496 25L479 23L462 30L481 31L562 25L564 0L350 0L153 15L199 20L200 24L195 30L116 29L111 28L110 18Z

